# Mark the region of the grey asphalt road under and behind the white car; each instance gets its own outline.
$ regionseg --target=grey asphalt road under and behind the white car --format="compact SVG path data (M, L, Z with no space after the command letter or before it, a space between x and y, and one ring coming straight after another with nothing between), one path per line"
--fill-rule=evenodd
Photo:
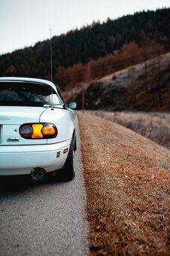
M0 178L0 255L89 255L80 143L73 181Z

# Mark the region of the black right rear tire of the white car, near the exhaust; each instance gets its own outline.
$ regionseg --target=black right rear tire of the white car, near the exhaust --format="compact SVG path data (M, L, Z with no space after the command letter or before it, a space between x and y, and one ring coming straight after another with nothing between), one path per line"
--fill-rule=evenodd
M68 156L62 169L59 170L59 180L61 181L71 181L75 176L74 169L74 140L71 140L70 149L68 151Z

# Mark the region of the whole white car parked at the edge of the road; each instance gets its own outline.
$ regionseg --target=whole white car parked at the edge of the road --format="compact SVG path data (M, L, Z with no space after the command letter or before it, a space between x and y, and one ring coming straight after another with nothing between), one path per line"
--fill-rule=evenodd
M0 175L74 178L77 117L59 88L36 78L0 78ZM56 173L57 173L56 172Z

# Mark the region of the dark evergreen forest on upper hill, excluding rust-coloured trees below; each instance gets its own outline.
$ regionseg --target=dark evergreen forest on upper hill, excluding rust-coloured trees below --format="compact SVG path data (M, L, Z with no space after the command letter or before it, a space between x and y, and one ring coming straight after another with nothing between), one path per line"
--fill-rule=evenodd
M142 11L105 23L93 23L66 35L55 36L53 44L53 78L57 70L85 65L93 59L114 56L126 45L135 43L140 49L147 44L170 48L170 8ZM124 67L123 67L124 68ZM50 78L50 41L41 41L0 56L0 76ZM65 82L66 83L66 82ZM63 84L61 84L63 86Z

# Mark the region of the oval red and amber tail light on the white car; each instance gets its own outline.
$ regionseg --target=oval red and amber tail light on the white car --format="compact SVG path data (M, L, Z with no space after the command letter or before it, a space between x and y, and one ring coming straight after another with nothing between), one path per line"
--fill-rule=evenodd
M24 123L20 126L20 136L24 139L53 139L57 134L53 123Z

